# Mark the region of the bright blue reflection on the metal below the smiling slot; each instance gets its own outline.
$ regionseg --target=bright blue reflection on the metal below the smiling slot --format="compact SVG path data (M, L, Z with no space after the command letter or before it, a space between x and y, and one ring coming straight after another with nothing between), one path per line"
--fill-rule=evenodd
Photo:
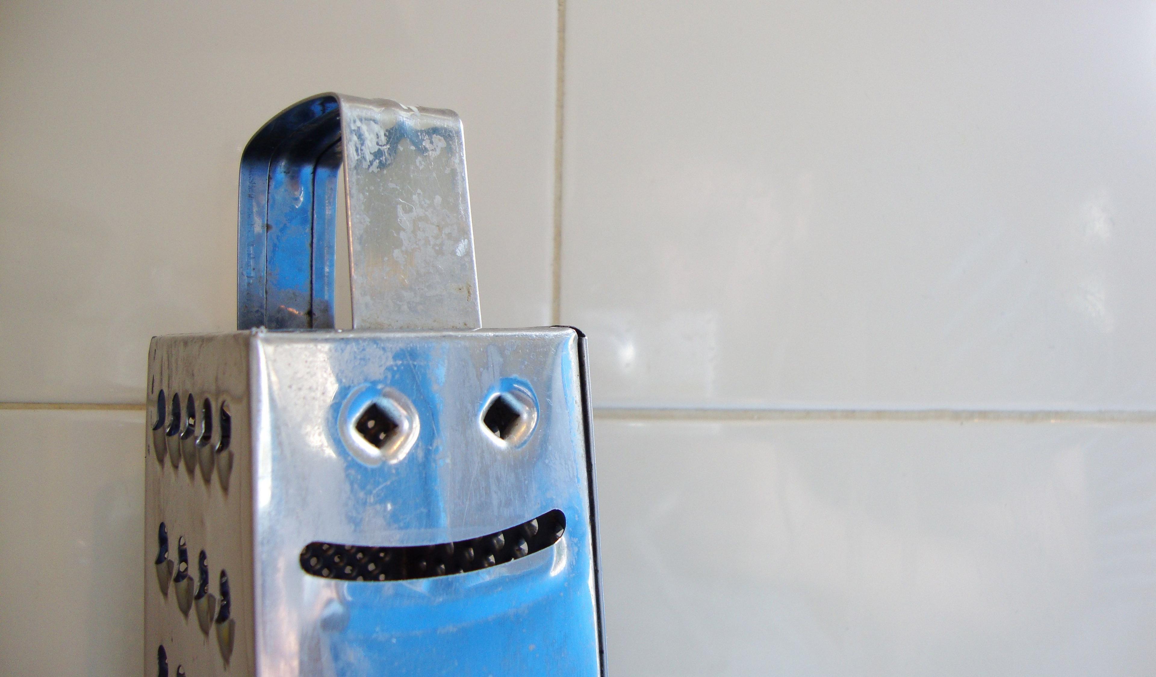
M590 559L565 551L588 537L577 520L573 536L568 529L554 546L491 570L343 583L348 625L326 633L335 674L363 675L368 664L406 676L598 675ZM560 558L563 571L551 572Z

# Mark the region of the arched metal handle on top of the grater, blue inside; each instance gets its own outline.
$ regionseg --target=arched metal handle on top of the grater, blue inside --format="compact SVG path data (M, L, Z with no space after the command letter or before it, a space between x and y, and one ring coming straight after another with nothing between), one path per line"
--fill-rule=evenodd
M354 328L481 327L458 114L323 94L242 154L237 328L333 328L339 171Z

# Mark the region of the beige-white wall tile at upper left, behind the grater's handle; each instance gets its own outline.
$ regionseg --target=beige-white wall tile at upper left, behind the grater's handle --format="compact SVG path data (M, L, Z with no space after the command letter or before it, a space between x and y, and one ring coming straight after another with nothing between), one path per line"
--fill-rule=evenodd
M240 150L320 91L457 110L482 320L549 320L553 3L7 2L3 15L0 401L139 402L150 336L234 328Z

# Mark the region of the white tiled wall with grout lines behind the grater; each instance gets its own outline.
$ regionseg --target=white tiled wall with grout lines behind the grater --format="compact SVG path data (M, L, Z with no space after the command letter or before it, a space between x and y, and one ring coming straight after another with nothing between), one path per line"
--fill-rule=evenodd
M591 336L615 675L1156 671L1156 3L8 0L0 672L140 674L146 347L325 90Z

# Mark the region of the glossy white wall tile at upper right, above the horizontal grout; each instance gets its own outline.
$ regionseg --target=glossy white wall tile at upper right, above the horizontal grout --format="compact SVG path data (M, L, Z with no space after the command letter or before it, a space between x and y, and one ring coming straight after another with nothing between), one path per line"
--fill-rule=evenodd
M602 404L1156 404L1143 2L566 9Z

